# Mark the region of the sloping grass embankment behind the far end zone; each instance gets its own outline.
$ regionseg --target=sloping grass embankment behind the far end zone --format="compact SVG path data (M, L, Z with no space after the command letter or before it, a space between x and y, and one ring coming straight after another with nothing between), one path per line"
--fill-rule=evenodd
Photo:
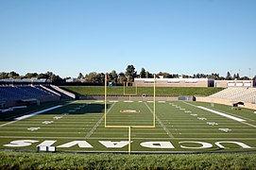
M103 95L104 86L61 86L61 88L78 95ZM213 93L217 93L223 90L222 88L201 88L201 87L157 87L156 95L169 95L169 96L179 96L179 95L202 95L207 96ZM108 87L108 94L123 95L125 93L136 93L135 87L124 87L113 86ZM138 87L138 95L143 93L147 95L153 95L152 87Z

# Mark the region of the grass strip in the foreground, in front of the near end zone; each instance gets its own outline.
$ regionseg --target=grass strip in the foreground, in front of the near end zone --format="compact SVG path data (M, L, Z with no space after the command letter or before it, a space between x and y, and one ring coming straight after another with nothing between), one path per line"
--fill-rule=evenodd
M0 152L0 169L255 169L255 154L114 155Z

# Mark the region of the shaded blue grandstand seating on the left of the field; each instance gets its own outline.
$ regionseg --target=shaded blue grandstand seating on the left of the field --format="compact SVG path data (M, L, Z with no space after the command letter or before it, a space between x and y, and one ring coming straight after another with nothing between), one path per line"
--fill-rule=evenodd
M75 94L65 92L59 87L50 85L46 83L45 80L36 81L35 79L23 79L22 81L17 81L11 79L11 81L9 81L5 79L1 81L0 85L0 108L75 98Z

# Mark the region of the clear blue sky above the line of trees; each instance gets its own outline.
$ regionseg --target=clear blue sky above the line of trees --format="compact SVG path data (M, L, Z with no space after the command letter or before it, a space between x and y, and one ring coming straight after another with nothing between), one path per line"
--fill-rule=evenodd
M256 76L255 61L255 0L0 0L0 72Z

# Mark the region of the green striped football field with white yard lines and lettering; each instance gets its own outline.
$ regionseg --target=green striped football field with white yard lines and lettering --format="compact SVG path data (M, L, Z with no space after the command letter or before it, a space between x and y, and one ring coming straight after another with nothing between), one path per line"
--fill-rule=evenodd
M1 121L0 149L51 145L57 151L128 152L126 127L131 127L131 153L256 151L255 110L156 101L153 120L152 101L108 101L106 124L117 127L106 128L104 107L104 101L79 100L23 120Z

